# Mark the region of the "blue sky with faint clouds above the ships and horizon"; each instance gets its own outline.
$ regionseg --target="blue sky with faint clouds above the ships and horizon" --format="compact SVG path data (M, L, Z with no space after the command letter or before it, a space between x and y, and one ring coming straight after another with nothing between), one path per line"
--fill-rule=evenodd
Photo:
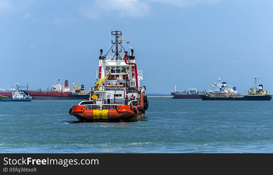
M89 89L100 49L106 53L110 30L120 30L148 93L174 85L203 91L218 77L247 93L258 76L272 94L272 7L266 0L0 0L0 88L19 79L45 90L60 78Z

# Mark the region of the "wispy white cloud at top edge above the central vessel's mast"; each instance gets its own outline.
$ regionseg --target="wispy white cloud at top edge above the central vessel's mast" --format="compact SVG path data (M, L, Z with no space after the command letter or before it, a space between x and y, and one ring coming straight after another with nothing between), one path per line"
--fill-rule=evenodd
M101 16L141 17L149 12L149 6L138 0L96 0L92 7L83 10L85 16L99 19Z

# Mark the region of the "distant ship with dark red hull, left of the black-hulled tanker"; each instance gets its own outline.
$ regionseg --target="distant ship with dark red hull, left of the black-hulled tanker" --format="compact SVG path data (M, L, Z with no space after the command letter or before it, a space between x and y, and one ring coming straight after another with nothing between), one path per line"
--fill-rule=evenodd
M174 85L174 91L171 91L172 99L200 99L199 91L196 88L190 88L182 91L176 90Z

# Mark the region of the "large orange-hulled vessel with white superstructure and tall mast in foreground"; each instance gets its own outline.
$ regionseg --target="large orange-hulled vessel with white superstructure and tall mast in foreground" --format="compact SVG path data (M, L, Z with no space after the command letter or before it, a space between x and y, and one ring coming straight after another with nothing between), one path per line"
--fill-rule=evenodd
M112 40L113 45L105 55L100 50L96 85L90 88L89 98L69 110L80 122L135 122L148 109L145 86L140 86L142 70L137 70L134 50L129 47L128 54L124 49L121 31L111 34L115 42Z

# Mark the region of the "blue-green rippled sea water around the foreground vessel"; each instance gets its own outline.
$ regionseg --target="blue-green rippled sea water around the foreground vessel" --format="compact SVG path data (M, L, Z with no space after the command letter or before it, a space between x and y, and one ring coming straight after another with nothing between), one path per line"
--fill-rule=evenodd
M79 123L81 100L0 102L1 153L273 153L273 101L148 97L132 123Z

